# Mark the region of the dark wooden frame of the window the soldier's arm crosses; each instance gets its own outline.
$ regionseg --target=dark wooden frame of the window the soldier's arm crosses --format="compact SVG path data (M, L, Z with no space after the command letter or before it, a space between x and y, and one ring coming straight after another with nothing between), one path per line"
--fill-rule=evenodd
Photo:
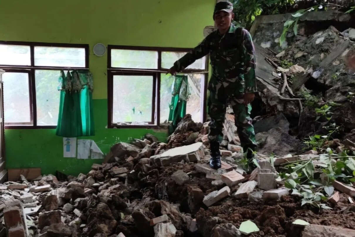
M158 68L117 68L111 66L111 49L128 49L128 50L144 50L144 51L157 51L158 52ZM162 52L189 52L191 48L171 48L171 47L144 47L144 46L126 46L126 45L111 45L107 46L107 107L108 107L108 128L151 128L156 129L160 126L160 74L168 72L169 69L162 68ZM209 57L206 55L205 69L184 69L181 73L204 74L204 81L201 81L203 88L202 95L202 122L206 121L206 97L207 97L207 81L208 81L208 61ZM113 75L128 75L129 73L138 73L140 75L155 74L155 87L153 87L153 101L152 103L152 124L142 125L126 125L114 124L112 121L113 115ZM155 118L155 119L154 119Z

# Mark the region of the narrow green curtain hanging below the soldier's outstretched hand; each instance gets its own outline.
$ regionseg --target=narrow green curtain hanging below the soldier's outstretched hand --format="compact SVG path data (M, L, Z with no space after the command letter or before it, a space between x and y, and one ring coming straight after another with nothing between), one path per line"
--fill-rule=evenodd
M189 84L186 75L176 75L171 93L169 122L175 129L178 123L186 115L186 100L189 97Z

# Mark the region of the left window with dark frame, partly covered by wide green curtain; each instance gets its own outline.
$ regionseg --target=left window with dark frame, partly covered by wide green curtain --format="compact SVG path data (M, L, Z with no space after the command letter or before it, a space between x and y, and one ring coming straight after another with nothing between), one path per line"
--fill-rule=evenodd
M0 42L6 128L55 128L60 70L88 68L87 44Z

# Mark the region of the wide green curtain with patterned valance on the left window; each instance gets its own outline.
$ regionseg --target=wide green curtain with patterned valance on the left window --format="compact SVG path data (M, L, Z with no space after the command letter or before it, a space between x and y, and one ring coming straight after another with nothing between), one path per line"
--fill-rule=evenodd
M56 135L67 138L92 136L94 131L93 79L87 70L61 71L60 104Z

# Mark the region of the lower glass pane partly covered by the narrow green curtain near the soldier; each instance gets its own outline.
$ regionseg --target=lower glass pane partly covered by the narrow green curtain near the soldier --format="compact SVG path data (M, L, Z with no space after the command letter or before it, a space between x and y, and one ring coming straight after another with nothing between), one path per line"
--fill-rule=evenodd
M188 75L191 95L187 99L186 113L191 114L194 122L201 122L201 80L204 80L204 74ZM174 77L160 74L160 123L164 123L169 118L173 83Z

